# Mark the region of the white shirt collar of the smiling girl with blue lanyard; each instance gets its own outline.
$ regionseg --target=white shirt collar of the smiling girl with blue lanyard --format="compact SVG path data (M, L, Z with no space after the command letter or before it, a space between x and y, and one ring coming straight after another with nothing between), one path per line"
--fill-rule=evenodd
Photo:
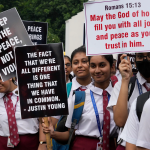
M103 93L103 90L98 88L98 87L96 87L96 86L94 86L94 83L91 83L91 85L89 86L89 89L93 93L98 94L98 95L102 95L102 93ZM112 87L112 84L110 82L109 86L105 90L109 93L109 95L111 95L112 89L113 89L113 87Z

